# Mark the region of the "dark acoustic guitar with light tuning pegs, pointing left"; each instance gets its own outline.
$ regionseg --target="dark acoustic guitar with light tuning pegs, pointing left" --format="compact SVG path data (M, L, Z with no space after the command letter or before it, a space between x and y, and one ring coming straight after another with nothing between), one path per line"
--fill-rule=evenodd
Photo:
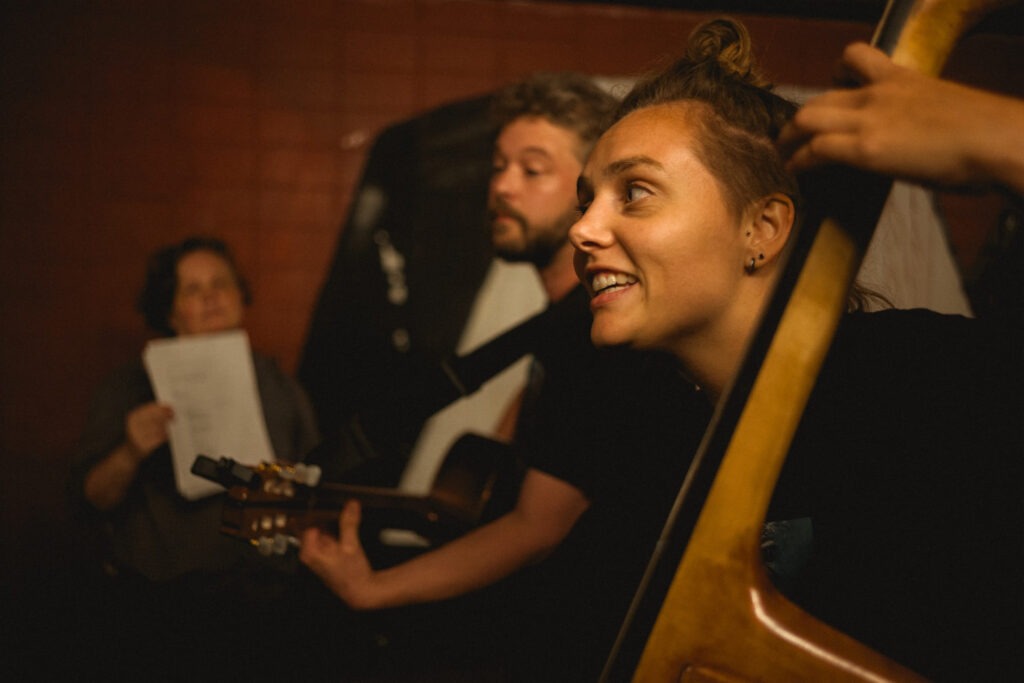
M280 555L310 526L337 532L346 502L359 501L365 526L413 531L442 544L494 518L514 502L517 467L509 447L464 434L449 451L428 494L321 481L319 468L304 464L240 464L198 456L194 474L224 485L221 532L249 542L261 554Z

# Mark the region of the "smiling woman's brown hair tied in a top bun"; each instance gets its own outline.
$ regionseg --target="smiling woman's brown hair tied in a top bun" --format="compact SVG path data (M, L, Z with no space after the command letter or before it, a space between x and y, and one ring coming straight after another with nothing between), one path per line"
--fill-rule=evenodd
M718 178L730 206L741 211L775 191L796 202L796 178L774 146L797 105L772 92L754 58L746 28L728 17L697 26L686 51L668 68L641 79L614 114L680 102L696 113L696 154Z

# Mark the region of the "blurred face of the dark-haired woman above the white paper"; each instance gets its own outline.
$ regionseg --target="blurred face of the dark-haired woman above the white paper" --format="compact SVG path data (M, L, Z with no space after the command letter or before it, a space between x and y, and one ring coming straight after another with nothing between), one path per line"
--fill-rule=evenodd
M170 324L178 336L241 327L245 304L227 261L210 251L189 252L178 261L177 274Z

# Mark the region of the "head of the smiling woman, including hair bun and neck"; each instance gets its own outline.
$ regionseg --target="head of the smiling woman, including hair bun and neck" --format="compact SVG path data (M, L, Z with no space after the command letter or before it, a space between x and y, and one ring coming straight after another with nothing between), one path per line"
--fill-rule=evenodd
M761 85L744 29L695 32L674 70L627 95L588 160L570 232L594 341L672 350L715 397L796 218L799 190L772 146L796 108ZM628 286L596 289L612 276Z

